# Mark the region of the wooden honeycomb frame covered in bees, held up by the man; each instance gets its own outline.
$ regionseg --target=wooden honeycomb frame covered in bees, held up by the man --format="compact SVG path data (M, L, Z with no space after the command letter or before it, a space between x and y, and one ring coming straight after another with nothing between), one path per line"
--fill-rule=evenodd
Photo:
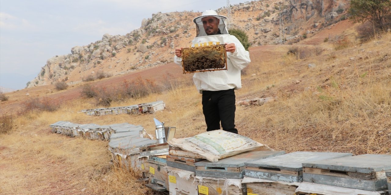
M183 73L218 71L227 69L227 55L224 44L182 49ZM198 44L197 44L198 45Z

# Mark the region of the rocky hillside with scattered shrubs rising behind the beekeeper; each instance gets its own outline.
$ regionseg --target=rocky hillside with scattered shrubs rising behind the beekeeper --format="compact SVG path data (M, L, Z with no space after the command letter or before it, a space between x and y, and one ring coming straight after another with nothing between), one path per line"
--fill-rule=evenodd
M346 19L347 6L348 0L252 1L231 6L229 27L245 30L253 46L293 44ZM217 12L227 15L224 7ZM75 46L70 54L48 59L27 87L74 85L98 73L115 76L170 62L174 48L188 47L195 36L192 19L200 14L158 12L126 35L105 34L95 43Z

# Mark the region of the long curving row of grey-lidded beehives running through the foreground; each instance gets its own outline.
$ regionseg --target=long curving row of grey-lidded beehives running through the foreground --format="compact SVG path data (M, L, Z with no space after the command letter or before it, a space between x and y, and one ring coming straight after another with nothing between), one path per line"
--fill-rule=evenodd
M170 195L386 195L391 192L391 155L386 154L352 156L339 152L285 154L251 150L213 162L206 160L202 152L144 138L142 126L58 121L50 127L56 133L85 138L103 139L102 132L108 132L113 162L127 170L139 171L149 188L169 191Z

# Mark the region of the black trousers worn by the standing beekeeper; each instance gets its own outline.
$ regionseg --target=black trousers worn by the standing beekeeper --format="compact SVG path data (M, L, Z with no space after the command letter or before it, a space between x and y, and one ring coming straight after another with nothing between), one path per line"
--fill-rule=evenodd
M205 116L206 131L220 129L238 133L235 128L235 91L202 91L202 110Z

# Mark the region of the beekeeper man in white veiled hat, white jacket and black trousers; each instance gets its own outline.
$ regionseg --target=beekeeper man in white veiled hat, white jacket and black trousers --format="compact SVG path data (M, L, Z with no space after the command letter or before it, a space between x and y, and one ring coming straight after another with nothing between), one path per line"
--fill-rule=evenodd
M238 133L235 128L235 91L242 87L240 70L250 63L249 52L240 41L228 34L224 21L227 17L207 10L194 18L197 36L195 43L224 43L227 51L227 70L194 73L195 87L202 94L202 109L206 122L206 131L220 128L224 131ZM174 62L181 65L182 49L175 49Z

